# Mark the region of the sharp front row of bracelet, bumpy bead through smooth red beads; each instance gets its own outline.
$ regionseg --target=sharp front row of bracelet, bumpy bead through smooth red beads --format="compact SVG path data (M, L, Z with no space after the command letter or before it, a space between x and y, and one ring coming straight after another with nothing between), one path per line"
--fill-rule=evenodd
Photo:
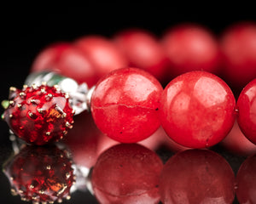
M36 85L46 78L49 84L55 83L54 87L47 82ZM3 119L27 143L41 145L62 139L73 127L74 110L84 109L90 109L103 133L119 142L146 139L161 124L171 139L191 148L218 144L230 132L239 111L243 133L255 142L252 104L256 80L244 88L237 107L228 85L206 71L185 73L164 91L153 76L136 68L112 71L90 91L84 84L78 86L72 79L52 72L32 74L26 82L32 86L10 88L9 101L3 103L7 104ZM65 84L71 82L75 88L69 88L75 91L63 93Z

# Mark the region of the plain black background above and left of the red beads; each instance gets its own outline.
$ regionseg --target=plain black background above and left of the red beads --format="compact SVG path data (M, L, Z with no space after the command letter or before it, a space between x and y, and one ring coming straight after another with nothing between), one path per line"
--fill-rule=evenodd
M11 3L10 3L11 4ZM139 27L152 31L156 36L166 29L183 22L193 22L206 26L219 37L227 26L242 20L256 20L253 5L232 3L207 3L181 6L169 3L108 2L85 5L53 7L51 4L2 5L0 8L1 58L0 58L0 99L8 98L9 87L21 88L29 73L33 59L40 50L52 42L72 42L84 35L97 34L112 37L117 31L129 27ZM1 112L3 109L1 109ZM0 122L0 164L9 156L8 127ZM239 158L233 158L239 164ZM23 203L19 197L9 193L7 178L1 173L0 195L4 203ZM78 198L79 197L79 198ZM74 196L69 203L84 203L90 195ZM82 200L83 199L83 200ZM82 202L83 201L83 202ZM2 202L2 201L1 201ZM3 203L3 202L2 202ZM93 203L88 201L87 203Z

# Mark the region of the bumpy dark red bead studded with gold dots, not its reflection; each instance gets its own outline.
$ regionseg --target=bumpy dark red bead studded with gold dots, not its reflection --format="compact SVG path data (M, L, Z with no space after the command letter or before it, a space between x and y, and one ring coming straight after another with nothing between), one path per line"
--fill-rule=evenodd
M9 99L4 120L27 143L55 142L73 127L73 109L58 88L46 85L11 88Z

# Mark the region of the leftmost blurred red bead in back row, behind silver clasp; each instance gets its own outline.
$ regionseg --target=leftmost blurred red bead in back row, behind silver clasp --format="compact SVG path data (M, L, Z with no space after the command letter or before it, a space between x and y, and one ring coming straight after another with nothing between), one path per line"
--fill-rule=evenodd
M69 43L55 43L38 54L32 72L55 71L89 87L97 82L96 71L90 59L79 48Z

